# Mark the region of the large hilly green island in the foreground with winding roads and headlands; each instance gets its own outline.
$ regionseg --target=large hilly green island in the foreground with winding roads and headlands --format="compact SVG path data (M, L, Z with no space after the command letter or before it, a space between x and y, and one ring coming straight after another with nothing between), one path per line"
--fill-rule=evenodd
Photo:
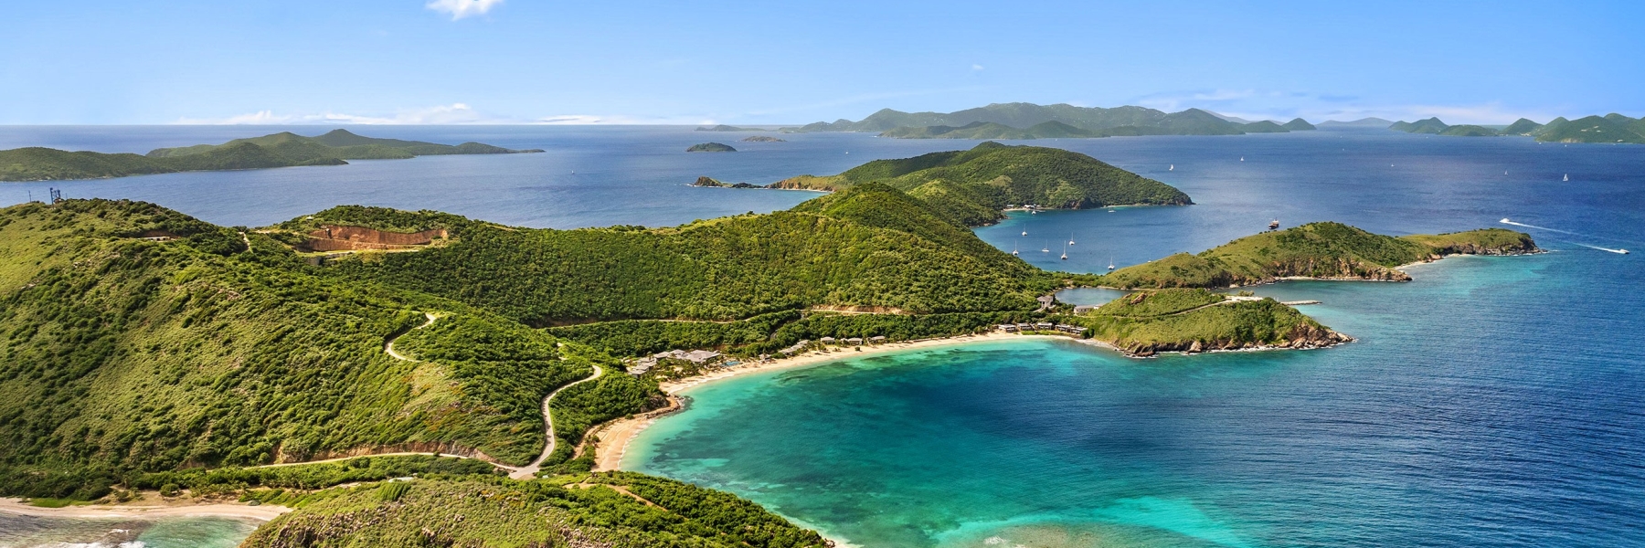
M1191 201L1091 156L999 143L804 181L829 194L676 227L368 206L260 229L138 201L0 209L0 495L31 512L227 509L271 518L245 541L268 548L821 548L753 502L609 471L622 438L602 428L679 410L686 377L847 347L1328 347L1352 337L1209 290L1535 252L1510 230L1393 239L1311 224L1105 276L1059 273L971 227L1030 201ZM1145 291L1056 303L1087 285Z

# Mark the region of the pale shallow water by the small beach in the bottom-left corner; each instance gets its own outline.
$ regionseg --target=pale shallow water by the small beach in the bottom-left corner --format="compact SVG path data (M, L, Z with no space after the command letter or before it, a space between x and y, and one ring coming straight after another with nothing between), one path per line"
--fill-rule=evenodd
M0 513L0 548L234 548L260 522L232 518L41 518Z

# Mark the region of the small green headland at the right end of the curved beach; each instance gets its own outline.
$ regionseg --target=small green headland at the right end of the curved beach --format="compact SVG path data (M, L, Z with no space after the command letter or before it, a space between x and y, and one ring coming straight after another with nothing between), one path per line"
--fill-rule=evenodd
M1086 314L1058 318L1091 339L1133 355L1170 351L1329 346L1347 341L1295 308L1268 298L1226 298L1206 290L1140 291Z

